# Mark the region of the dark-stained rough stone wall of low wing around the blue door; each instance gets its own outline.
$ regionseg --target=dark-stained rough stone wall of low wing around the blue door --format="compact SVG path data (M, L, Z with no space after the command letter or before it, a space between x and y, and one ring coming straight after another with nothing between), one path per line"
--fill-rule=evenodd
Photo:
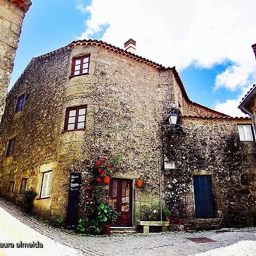
M182 118L176 131L165 127L164 154L176 164L164 170L165 198L172 212L193 224L193 175L212 175L216 217L225 226L254 225L255 142L241 142L238 124L250 119ZM215 220L205 220L209 225ZM219 223L219 224L220 224Z

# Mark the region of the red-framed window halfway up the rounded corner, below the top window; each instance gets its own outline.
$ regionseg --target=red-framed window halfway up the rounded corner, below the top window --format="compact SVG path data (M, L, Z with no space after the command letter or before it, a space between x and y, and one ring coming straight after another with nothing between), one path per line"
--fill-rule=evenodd
M85 129L86 105L67 108L65 131Z

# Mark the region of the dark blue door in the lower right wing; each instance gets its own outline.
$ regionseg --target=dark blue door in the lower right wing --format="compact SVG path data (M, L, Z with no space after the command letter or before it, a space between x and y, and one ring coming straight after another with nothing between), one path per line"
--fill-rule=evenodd
M212 193L212 176L195 175L194 193L196 218L215 218Z

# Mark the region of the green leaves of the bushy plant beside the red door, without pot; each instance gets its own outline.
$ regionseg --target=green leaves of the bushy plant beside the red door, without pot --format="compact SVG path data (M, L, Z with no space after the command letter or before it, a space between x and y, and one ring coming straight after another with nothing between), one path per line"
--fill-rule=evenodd
M98 206L98 220L101 223L114 223L120 215L111 205L101 203Z

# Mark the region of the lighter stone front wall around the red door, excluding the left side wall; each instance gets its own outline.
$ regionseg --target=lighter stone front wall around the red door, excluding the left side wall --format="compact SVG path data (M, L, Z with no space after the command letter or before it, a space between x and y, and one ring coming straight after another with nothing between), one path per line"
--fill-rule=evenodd
M83 169L80 216L88 214L90 207L85 191L90 177L86 165L99 156L118 155L123 160L114 177L135 181L143 176L143 188L133 187L135 218L140 219L146 209L150 213L154 209L159 212L160 109L164 109L164 96L170 95L164 88L171 86L171 75L168 72L159 75L147 65L98 47L75 47L72 57L87 53L90 53L89 75L67 81L64 100L65 107L87 104L86 131L62 134L59 148L61 158L65 159L63 165L72 171L68 159L74 158L75 145L80 144L73 165L73 170ZM83 164L84 168L76 167ZM107 193L108 185L104 189Z

